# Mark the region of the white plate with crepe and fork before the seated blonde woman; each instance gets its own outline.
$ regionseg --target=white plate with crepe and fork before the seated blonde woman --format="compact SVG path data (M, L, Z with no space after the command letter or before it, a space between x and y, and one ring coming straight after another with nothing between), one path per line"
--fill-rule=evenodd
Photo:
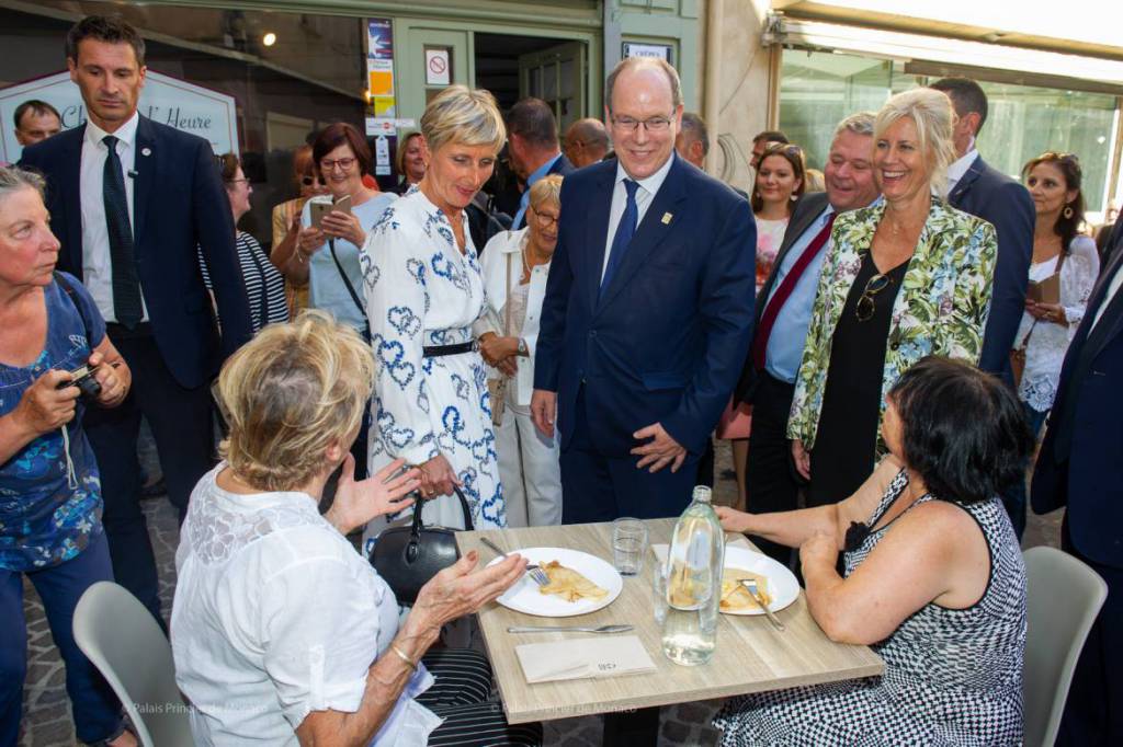
M526 557L531 563L549 563L558 561L566 568L572 568L586 579L608 589L606 597L601 599L581 599L568 602L557 594L544 594L538 590L538 584L526 574L513 587L503 592L496 601L517 612L537 615L539 617L573 617L575 615L587 615L603 609L611 605L620 596L624 588L624 580L620 578L617 569L612 564L601 560L596 555L590 555L578 550L566 550L565 547L518 547L508 552ZM499 563L496 557L489 565Z

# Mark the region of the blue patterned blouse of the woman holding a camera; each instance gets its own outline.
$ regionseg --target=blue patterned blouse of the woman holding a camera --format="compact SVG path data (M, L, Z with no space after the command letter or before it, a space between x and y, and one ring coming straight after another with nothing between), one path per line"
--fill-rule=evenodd
M83 366L106 336L106 323L90 294L73 277L66 279L73 297L56 283L44 288L47 344L39 357L22 368L0 363L0 415L13 411L24 391L48 369ZM79 400L74 419L66 425L73 480L62 428L40 435L0 465L0 568L30 571L57 565L101 534L101 480L82 430L83 412Z

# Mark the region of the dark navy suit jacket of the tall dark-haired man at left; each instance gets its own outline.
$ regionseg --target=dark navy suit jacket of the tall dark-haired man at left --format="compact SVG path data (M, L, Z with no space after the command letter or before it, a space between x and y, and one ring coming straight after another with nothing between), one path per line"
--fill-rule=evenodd
M84 136L84 125L61 132L25 149L20 162L47 177L51 230L62 243L58 269L79 279ZM202 138L140 117L134 150L136 164L126 168L135 179L133 236L140 289L165 365L180 385L194 388L253 335L230 203L210 144ZM197 246L210 270L222 321L221 347Z

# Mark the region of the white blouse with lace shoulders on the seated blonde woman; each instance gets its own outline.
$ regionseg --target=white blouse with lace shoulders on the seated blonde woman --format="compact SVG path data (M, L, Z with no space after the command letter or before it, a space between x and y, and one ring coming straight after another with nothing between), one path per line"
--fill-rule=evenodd
M175 680L198 745L295 747L311 711L355 712L371 664L398 633L398 602L302 492L191 495L175 555ZM413 675L372 744L424 745L440 723Z

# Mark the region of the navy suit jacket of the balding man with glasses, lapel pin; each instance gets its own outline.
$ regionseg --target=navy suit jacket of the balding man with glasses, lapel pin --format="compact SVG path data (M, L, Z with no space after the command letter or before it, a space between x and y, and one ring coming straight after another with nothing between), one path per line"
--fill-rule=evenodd
M562 224L535 358L535 387L558 394L562 446L585 385L591 434L627 457L661 423L701 453L729 402L752 333L756 224L728 186L673 156L603 293L617 162L562 185Z

